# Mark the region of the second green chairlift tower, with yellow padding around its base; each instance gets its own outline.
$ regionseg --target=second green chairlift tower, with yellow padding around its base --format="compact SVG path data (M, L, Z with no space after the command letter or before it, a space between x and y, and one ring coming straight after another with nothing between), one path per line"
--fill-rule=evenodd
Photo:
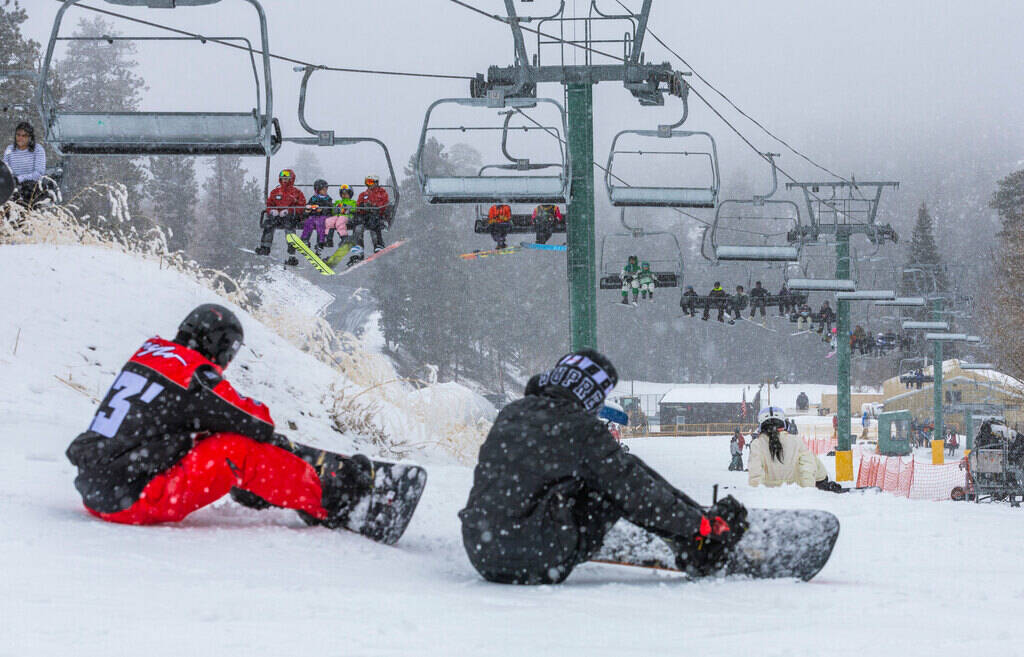
M850 278L850 236L865 235L874 245L898 236L892 226L876 222L879 201L886 187L898 188L899 183L858 182L837 180L830 182L787 182L786 189L801 189L807 205L810 225L806 237L835 236L836 278ZM850 446L850 301L836 302L837 362L836 362L836 480L853 480L853 451Z

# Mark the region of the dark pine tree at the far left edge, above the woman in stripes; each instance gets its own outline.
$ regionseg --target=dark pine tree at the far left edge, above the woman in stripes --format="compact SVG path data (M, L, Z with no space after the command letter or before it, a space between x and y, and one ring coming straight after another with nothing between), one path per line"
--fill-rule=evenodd
M39 43L26 39L22 25L28 12L16 0L6 0L0 5L0 69L34 72L39 59ZM45 143L41 126L35 125L34 106L36 84L32 80L0 76L0 149L13 139L14 127L22 121L36 128L36 139ZM47 154L51 157L51 154Z

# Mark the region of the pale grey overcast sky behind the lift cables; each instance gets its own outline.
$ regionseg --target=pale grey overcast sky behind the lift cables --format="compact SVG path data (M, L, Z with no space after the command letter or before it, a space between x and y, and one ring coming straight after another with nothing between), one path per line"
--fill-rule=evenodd
M599 2L604 11L616 7L615 0ZM504 7L499 0L472 3L493 12ZM23 4L32 14L29 36L45 43L58 3ZM242 0L174 11L92 4L208 35L256 35L255 12ZM263 4L271 50L301 59L460 75L512 61L507 28L446 0ZM516 4L539 13L557 3ZM583 13L588 2L568 0L573 4ZM68 29L82 15L89 12L69 11ZM910 207L929 184L956 175L957 168L991 161L1009 167L1024 160L1024 2L1019 0L655 0L650 28L740 107L834 171L910 180L911 188L903 190L912 196ZM532 39L528 43L532 50ZM139 73L150 86L146 106L247 111L253 105L244 58L213 45L190 50L195 56L180 46L140 49ZM648 60L686 70L650 38L645 52ZM545 60L554 54L546 51ZM468 95L468 83L458 80L318 76L310 90L314 126L379 136L398 167L415 149L426 106L437 97ZM299 129L299 79L292 64L274 64L274 114L291 134ZM725 108L721 98L694 84ZM541 94L562 97L555 85L543 85ZM765 167L746 146L693 100L687 127L716 135L726 185L744 175L766 178ZM678 104L640 107L620 84L604 83L595 93L594 114L595 157L603 161L617 130L673 121ZM734 113L727 116L760 149L781 148ZM274 168L287 166L284 160L291 157L283 155ZM801 177L823 176L784 150L781 164Z

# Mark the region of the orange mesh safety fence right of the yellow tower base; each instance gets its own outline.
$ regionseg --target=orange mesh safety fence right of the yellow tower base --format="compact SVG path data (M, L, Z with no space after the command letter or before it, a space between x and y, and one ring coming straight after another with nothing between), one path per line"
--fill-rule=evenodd
M878 486L909 499L949 499L952 489L966 486L959 463L933 466L911 456L864 454L857 470L857 487Z

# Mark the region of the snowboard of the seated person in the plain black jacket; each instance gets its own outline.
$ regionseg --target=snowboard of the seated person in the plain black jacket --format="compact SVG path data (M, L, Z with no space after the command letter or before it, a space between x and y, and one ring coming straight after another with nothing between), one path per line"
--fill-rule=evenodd
M826 511L751 509L750 529L725 566L707 577L809 581L824 567L839 537L839 519ZM591 560L602 564L679 571L669 545L645 529L620 520ZM700 579L701 577L698 577Z

